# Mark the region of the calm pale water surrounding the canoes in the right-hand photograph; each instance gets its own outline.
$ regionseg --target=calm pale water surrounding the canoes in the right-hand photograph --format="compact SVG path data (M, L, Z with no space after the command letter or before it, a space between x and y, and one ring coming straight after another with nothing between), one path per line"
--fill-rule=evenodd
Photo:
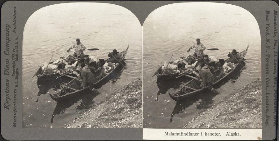
M193 55L187 49L200 38L209 56L227 59L228 52L247 48L246 69L240 67L233 76L219 84L217 95L203 93L184 102L175 102L168 93L178 91L189 79L157 82L151 77L165 61ZM261 40L255 18L245 9L227 4L178 3L153 11L143 25L143 125L144 128L179 128L198 112L237 92L261 77ZM154 101L160 93L158 101Z

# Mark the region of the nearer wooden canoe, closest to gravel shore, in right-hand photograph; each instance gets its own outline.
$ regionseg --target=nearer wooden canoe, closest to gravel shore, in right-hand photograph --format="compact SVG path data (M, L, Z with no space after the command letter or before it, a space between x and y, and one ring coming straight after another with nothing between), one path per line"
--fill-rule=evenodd
M241 61L243 61L244 57L246 56L246 53L247 53L247 51L248 51L248 48L249 48L249 45L248 45L248 47L247 47L244 51L242 51L242 52L239 53L240 56L242 57ZM228 59L226 59L225 61L227 62ZM240 62L241 62L241 61L240 61ZM242 65L241 65L240 63L237 63L237 64L235 65L235 67L234 67L230 72L228 72L228 73L223 73L224 76L221 77L217 82L213 83L213 86L217 85L219 82L221 82L221 81L224 80L226 77L228 77L229 75L231 75L232 72L233 72L234 70L236 70L236 68L239 67L239 66L242 66ZM190 76L189 76L189 77L190 77ZM185 92L183 89L181 89L181 91L178 92L178 93L173 93L173 94L170 94L170 93L169 93L170 98L172 98L172 99L175 100L175 101L182 101L182 100L187 99L187 98L189 98L189 97L191 97L191 96L193 96L193 95L196 95L196 94L199 94L199 93L201 93L201 92L204 92L204 91L208 90L208 86L206 86L206 87L203 88L203 89L196 89L196 88L198 88L198 86L201 84L201 80L198 80L197 78L194 78L194 77L192 77L192 78L193 78L193 79L191 80L192 82L186 84L186 87L187 87L188 89L190 89L189 91Z

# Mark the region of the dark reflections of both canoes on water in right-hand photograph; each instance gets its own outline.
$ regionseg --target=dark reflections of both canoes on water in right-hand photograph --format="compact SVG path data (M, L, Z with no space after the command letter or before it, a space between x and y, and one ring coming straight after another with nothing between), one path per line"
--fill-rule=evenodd
M244 65L244 63L243 63ZM241 75L241 72L243 70L242 66L237 67L230 76L227 76L224 78L224 80L220 81L219 84L215 85L214 88L218 89L222 85L226 84L229 80L232 80L232 83L234 83ZM188 81L191 79L188 79ZM177 81L177 80L176 80ZM169 82L161 82L160 86L158 85L158 88L160 89L159 92L165 92L170 89L178 89L179 85L183 83L183 81L169 81ZM184 79L185 81L185 79ZM175 83L174 83L175 82ZM159 93L158 92L158 93ZM207 109L213 104L213 98L217 96L218 94L210 93L209 91L204 91L202 93L199 93L187 100L184 100L183 102L176 102L176 105L171 113L170 116L170 122L172 122L173 117L177 114L186 112L186 109L193 105L193 103L197 102L200 100L199 104L196 106L196 109Z

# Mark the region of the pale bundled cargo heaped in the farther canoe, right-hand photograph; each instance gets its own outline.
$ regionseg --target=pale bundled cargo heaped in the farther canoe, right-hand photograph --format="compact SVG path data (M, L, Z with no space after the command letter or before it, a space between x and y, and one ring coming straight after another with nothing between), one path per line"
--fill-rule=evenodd
M215 57L213 57L213 58L215 58ZM191 55L188 55L187 57L180 57L174 61L170 61L169 64L167 62L165 62L165 64L163 66L159 66L159 68L154 73L154 75L157 76L157 80L176 79L180 75L185 75L185 74L194 76L194 75L197 75L197 73L199 71L199 69L197 68L198 61L199 60L194 59L193 56L191 56ZM215 60L211 59L209 57L208 63L210 63L212 61L215 61Z

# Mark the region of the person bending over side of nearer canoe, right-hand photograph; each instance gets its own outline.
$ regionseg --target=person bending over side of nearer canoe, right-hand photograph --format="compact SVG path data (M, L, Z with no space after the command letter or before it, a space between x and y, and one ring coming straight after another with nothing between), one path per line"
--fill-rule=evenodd
M202 87L203 89L206 86L208 86L210 92L218 93L217 90L213 88L213 81L215 80L215 77L210 72L208 66L206 66L204 63L201 63L200 66L201 66L200 77L202 81L200 87Z

